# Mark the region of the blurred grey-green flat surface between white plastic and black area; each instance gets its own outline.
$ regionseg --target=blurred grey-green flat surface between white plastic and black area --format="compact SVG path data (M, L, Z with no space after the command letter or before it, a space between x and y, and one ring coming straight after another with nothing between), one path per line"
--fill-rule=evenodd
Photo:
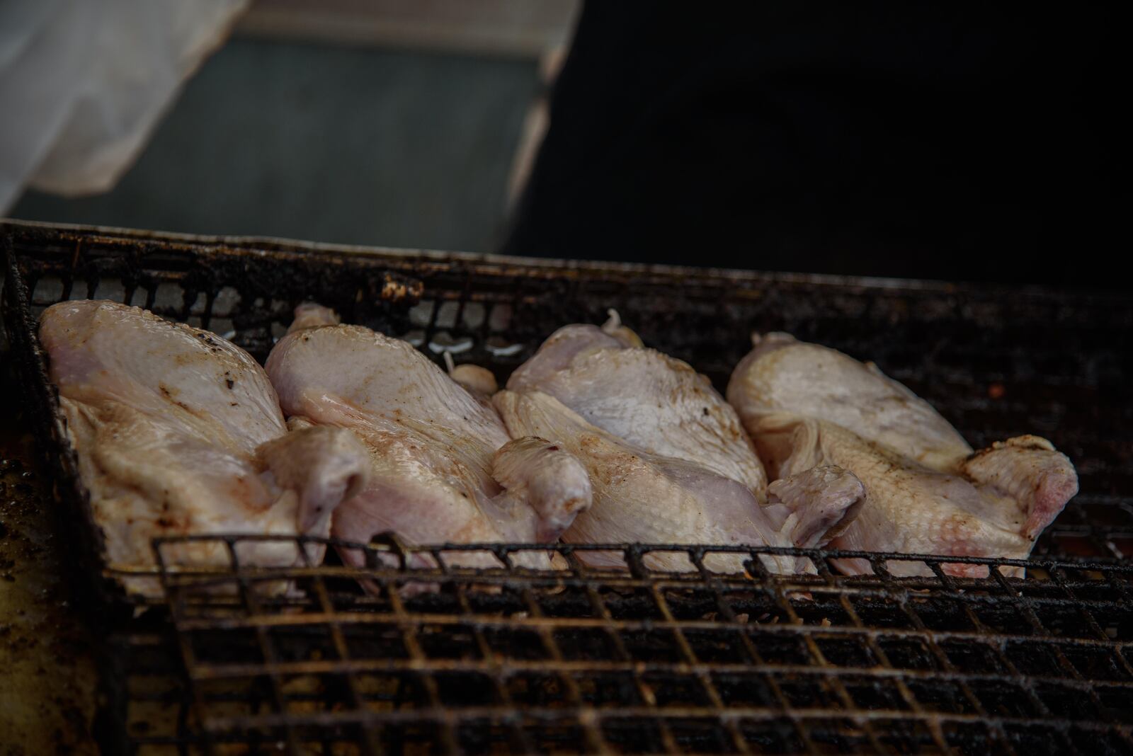
M326 0L286 5L334 16ZM475 16L480 3L450 5ZM505 231L509 166L538 88L534 59L237 35L185 83L112 190L29 190L10 215L486 251Z

